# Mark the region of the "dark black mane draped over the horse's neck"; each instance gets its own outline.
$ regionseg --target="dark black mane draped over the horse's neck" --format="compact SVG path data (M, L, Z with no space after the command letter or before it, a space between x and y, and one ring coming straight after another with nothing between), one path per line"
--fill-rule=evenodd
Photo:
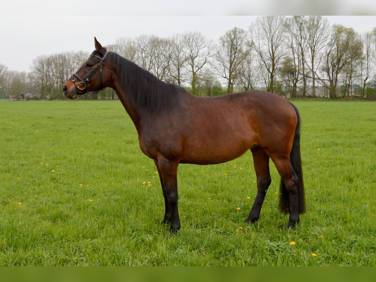
M180 105L179 86L163 82L149 71L117 53L111 53L111 64L117 70L123 89L139 106L162 113Z

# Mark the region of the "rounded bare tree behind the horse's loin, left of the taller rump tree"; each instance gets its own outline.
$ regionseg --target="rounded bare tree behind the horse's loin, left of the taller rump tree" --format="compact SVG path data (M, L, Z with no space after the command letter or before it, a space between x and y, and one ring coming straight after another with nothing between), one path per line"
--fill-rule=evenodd
M247 36L244 29L234 27L219 38L216 70L227 80L227 94L233 92L233 87L239 79L241 64L248 55L246 49Z

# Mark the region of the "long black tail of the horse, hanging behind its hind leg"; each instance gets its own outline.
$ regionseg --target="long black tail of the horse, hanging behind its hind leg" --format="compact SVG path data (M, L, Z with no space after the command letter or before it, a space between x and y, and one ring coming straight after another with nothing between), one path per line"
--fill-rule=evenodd
M289 102L290 103L290 102ZM305 212L305 197L304 197L304 184L303 184L303 171L302 171L302 158L300 157L300 114L296 106L290 103L291 106L296 111L296 116L298 118L298 122L296 124L293 147L290 153L290 161L293 167L293 170L298 177L298 206L299 206L299 214L303 214ZM279 187L279 209L281 212L288 213L290 210L290 197L288 191L286 189L285 183L281 178L280 187Z

